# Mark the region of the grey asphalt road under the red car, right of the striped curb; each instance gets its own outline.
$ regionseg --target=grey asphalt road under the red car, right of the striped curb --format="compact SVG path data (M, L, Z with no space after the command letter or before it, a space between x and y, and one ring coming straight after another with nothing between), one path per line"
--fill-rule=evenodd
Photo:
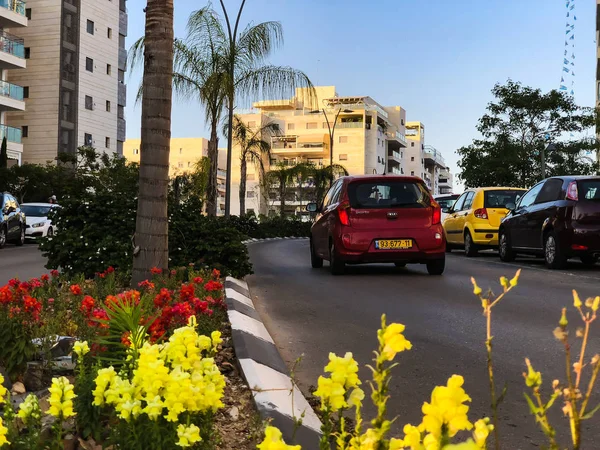
M288 365L304 355L296 375L305 393L316 385L330 351L338 355L351 351L362 365L370 362L382 313L388 321L406 325L413 349L399 355L390 385L389 411L398 417L395 433L407 422L420 421L423 401L452 374L465 377L473 398L471 419L490 415L485 320L470 277L475 276L482 288L499 292L499 277L511 277L522 267L518 287L495 307L492 320L496 377L499 389L504 383L508 388L499 432L502 448L510 450L546 444L523 398L524 358L543 371L547 394L551 380L565 378L562 345L552 332L561 308L572 305L571 289L583 297L600 294L600 266L586 269L577 263L566 271L551 272L531 259L506 264L495 254L466 258L456 252L448 256L442 277L427 275L422 266L391 265L351 266L346 275L333 277L328 267L310 268L306 240L254 243L250 255L253 300ZM577 323L573 312L569 318L571 324ZM599 325L594 325L598 336ZM595 337L590 352L598 351L600 339ZM361 369L360 375L366 380L369 372ZM595 400L594 405L599 399ZM557 402L552 419L564 433L561 406ZM593 440L582 448L600 446L599 420L585 422L585 432ZM594 441L596 445L590 444ZM568 441L563 442L565 448Z

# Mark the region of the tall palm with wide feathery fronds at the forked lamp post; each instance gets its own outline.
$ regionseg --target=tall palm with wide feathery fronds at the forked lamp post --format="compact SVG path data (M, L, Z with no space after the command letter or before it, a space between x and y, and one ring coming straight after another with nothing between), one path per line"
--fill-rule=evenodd
M189 25L189 41L195 45L206 45L207 36L210 42L218 46L222 56L221 71L224 74L226 107L228 109L227 140L227 173L231 173L231 157L233 147L233 115L238 98L251 100L267 97L285 97L293 95L296 87L308 87L309 100L313 97L313 85L310 79L299 70L265 64L265 60L275 48L283 43L283 28L279 22L263 22L248 25L239 31L240 19L246 0L237 13L235 22L229 19L223 0L219 0L225 16L225 27L220 21L211 21L207 30L203 14L192 13ZM200 10L202 11L202 10ZM225 196L225 214L231 209L231 177L227 177Z

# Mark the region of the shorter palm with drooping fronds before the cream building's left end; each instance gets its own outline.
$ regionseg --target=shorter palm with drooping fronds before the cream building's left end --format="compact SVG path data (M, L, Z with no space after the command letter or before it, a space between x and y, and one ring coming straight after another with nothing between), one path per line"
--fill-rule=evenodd
M228 124L225 133L229 131ZM240 146L240 216L246 214L246 172L248 163L253 163L259 169L259 177L265 175L264 158L271 158L271 143L266 141L279 133L279 125L274 122L261 124L253 130L238 116L233 117L233 140Z

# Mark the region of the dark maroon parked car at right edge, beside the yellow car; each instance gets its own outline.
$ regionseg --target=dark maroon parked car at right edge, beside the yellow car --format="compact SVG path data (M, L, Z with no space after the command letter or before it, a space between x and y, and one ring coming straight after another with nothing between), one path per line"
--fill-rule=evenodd
M569 258L593 265L600 257L600 177L548 178L511 207L500 226L500 258L544 256L559 269Z

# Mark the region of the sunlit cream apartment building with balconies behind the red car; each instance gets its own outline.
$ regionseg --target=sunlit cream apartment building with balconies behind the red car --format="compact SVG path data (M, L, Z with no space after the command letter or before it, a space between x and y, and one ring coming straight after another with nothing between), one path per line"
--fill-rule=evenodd
M383 106L368 96L340 97L335 86L319 86L315 95L297 89L290 99L259 101L239 114L250 127L274 122L280 133L269 137L271 158L265 169L306 162L317 167L342 165L351 175L405 173L403 167L406 111ZM337 117L337 119L336 119ZM334 127L335 124L335 127ZM331 139L333 135L333 140ZM239 211L240 149L234 143L232 157L231 214ZM261 187L259 170L248 164L246 212L269 214L280 201ZM286 199L286 214L300 214L303 201L296 194Z

